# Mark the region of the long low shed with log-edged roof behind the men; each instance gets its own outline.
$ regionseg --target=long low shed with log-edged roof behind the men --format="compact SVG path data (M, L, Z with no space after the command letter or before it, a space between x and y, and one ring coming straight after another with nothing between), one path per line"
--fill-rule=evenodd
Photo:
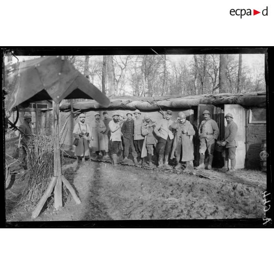
M199 137L197 128L203 119L202 112L209 110L211 116L217 121L220 129L219 139L224 136L224 127L226 121L224 115L231 112L234 121L238 125L238 143L237 148L237 168L260 168L260 148L262 140L266 139L266 92L250 92L239 94L204 94L187 97L114 97L110 99L110 107L102 108L96 101L73 103L73 109L86 112L86 122L91 123L94 120L94 112L102 113L108 110L111 116L112 111L120 111L120 113L140 110L142 113L149 113L155 120L160 120L163 116L161 110L172 110L172 119L176 120L179 111L184 111L187 119L193 124L196 130L194 137L194 165L199 162ZM77 121L69 116L70 103L63 101L60 106L60 126L66 124L68 127L66 138L63 142L66 148L73 149L72 146L72 130ZM102 115L103 118L103 115ZM222 158L216 152L213 166L221 165Z

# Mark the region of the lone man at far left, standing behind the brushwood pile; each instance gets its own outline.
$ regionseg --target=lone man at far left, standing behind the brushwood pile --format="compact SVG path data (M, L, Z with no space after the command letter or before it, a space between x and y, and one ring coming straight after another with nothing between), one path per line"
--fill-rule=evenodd
M32 133L32 128L31 128L31 115L29 113L26 113L24 115L24 122L21 124L19 129L21 130L21 145L23 148L23 159L22 159L22 167L24 169L27 169L27 144L29 142L29 139L31 136L34 134Z

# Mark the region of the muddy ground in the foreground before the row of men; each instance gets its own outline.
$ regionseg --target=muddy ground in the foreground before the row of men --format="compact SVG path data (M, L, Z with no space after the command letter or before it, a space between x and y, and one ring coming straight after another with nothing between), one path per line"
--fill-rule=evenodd
M12 142L10 142L11 144ZM6 152L12 154L6 142ZM6 158L10 163L13 160ZM19 158L19 160L21 160ZM23 171L19 164L11 170ZM52 220L141 220L141 219L241 219L263 218L262 192L266 174L218 169L199 173L175 173L164 169L109 162L86 161L77 165L65 158L64 176L81 199L77 205L63 189L63 208L54 209L50 198L37 221ZM22 173L23 174L23 173ZM24 175L17 173L6 189L6 221L31 221L31 208L19 205Z

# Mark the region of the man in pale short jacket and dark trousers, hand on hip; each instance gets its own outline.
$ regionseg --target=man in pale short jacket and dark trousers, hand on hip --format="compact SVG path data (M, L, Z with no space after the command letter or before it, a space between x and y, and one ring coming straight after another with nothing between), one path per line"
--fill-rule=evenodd
M167 110L165 113L165 118L160 120L159 123L157 123L154 133L159 138L158 144L157 144L157 152L159 154L159 161L158 161L158 167L166 167L170 168L171 166L168 165L168 156L169 152L172 147L173 142L173 134L169 130L169 127L174 123L171 120L172 117L172 111ZM163 163L164 162L164 163Z

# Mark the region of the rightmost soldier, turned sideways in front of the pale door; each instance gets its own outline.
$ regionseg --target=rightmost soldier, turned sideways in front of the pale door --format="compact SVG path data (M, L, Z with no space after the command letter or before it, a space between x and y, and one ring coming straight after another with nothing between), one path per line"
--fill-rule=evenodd
M233 121L233 115L227 113L225 116L227 126L224 129L224 139L221 142L221 145L224 146L224 151L222 157L224 158L224 167L228 172L234 172L236 166L236 147L238 142L236 140L238 126ZM228 159L231 162L231 168L228 169Z

